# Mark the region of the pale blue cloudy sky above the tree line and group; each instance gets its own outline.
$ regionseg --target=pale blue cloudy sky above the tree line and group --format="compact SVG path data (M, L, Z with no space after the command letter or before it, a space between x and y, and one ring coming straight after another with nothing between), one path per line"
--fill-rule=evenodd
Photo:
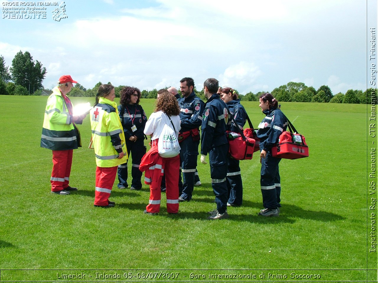
M201 89L214 77L242 94L290 81L345 93L366 89L372 2L375 9L350 0L67 0L59 22L56 6L46 6L45 19L3 18L1 2L0 55L10 66L29 51L47 69L46 88L70 74L85 88L151 90L192 77Z

